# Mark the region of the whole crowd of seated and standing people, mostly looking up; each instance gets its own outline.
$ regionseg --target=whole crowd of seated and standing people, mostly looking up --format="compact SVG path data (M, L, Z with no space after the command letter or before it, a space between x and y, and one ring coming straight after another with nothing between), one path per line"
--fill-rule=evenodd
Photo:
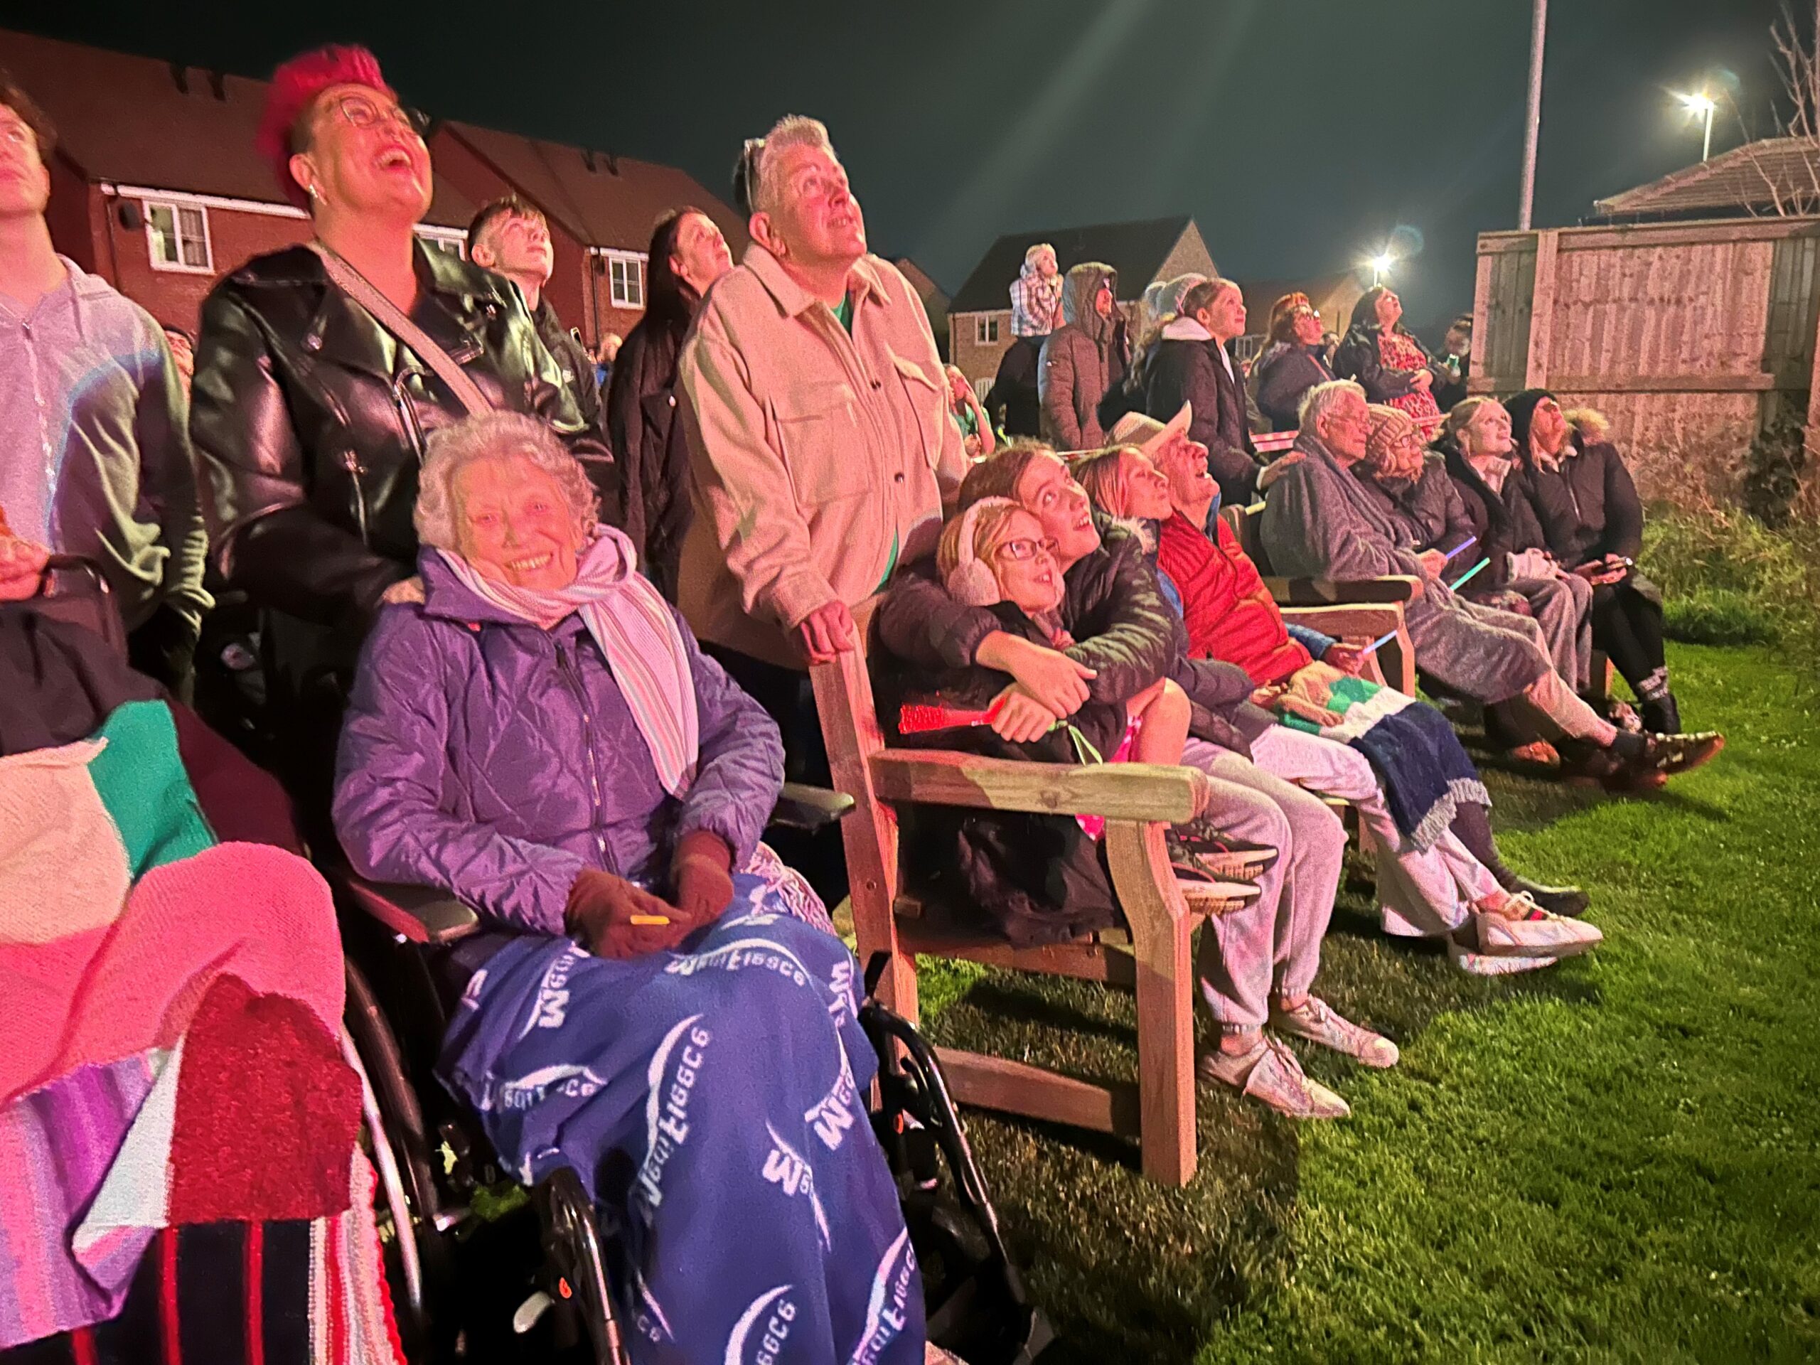
M619 1201L635 1358L733 1358L781 1281L792 1358L923 1358L903 1214L854 1125L874 1059L824 910L839 850L799 875L759 841L786 775L828 781L808 670L868 644L866 599L894 743L1203 774L1167 841L1208 912L1201 1077L1298 1117L1349 1110L1285 1037L1398 1063L1316 994L1329 799L1376 852L1387 932L1460 970L1602 935L1578 888L1505 866L1451 721L1381 682L1374 641L1287 622L1265 573L1414 579L1432 690L1563 774L1649 788L1724 743L1682 732L1603 422L1467 399L1461 329L1438 360L1390 289L1338 344L1278 300L1245 366L1232 280L1156 284L1127 318L1110 266L1034 244L981 402L868 253L828 131L790 116L741 153L743 258L675 206L642 320L590 353L542 293L535 206L488 204L466 258L422 246L420 127L340 47L278 69L258 135L309 240L222 277L191 339L56 255L51 138L0 84L0 592L96 561L135 664L284 779L315 846L477 906L444 1079L513 1170L571 1165ZM1296 437L1267 462L1270 428ZM1267 564L1221 508L1259 519ZM1640 713L1589 701L1594 650ZM899 733L917 703L990 723ZM908 837L1014 943L1119 919L1092 821ZM617 1192L595 1185L615 1150Z

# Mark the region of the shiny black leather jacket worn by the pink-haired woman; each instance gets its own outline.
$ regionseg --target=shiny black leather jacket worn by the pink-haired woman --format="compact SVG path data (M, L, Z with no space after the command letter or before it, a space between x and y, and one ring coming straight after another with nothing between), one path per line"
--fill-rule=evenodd
M548 420L590 473L610 462L517 289L420 242L417 275L411 320L499 408ZM464 415L308 248L222 278L202 306L189 435L228 586L331 628L348 655L380 593L415 571L424 439Z

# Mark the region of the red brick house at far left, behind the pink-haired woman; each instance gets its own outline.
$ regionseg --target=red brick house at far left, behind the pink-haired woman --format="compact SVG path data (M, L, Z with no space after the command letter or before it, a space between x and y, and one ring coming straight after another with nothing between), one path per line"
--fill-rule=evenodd
M56 249L160 322L195 331L218 275L308 237L253 151L266 82L5 29L0 66L56 124ZM420 231L459 249L473 209L439 175Z

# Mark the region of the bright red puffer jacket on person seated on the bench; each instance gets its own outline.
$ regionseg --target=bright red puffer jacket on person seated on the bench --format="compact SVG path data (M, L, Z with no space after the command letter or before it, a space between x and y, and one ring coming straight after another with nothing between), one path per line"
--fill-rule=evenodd
M1179 511L1163 522L1158 564L1181 590L1188 655L1223 659L1258 686L1278 682L1309 662L1289 637L1283 613L1230 528L1214 519L1219 541L1207 539Z

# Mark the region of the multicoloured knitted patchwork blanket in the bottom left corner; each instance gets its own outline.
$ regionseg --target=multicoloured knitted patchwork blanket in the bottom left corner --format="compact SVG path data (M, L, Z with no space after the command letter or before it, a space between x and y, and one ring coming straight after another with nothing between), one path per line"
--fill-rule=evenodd
M167 1230L349 1216L329 890L217 841L164 703L0 757L0 1347L120 1314ZM380 1354L349 1354L353 1321L333 1358L391 1356L384 1312L359 1318Z

